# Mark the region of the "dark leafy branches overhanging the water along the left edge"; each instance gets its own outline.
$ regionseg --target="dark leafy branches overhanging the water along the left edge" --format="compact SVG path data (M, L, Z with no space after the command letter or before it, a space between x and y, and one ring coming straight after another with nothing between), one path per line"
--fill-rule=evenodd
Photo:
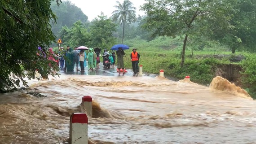
M50 19L56 20L50 5L51 0L0 1L0 92L16 89L20 83L27 86L24 78L35 79L35 70L46 78L58 70L48 60L47 47L55 40ZM37 55L38 46L45 58Z

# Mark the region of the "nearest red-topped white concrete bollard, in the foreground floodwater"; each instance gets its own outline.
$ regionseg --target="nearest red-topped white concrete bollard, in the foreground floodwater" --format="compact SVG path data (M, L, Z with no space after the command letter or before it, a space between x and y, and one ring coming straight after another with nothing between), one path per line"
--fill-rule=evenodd
M72 113L69 126L70 144L88 144L88 117L85 113Z

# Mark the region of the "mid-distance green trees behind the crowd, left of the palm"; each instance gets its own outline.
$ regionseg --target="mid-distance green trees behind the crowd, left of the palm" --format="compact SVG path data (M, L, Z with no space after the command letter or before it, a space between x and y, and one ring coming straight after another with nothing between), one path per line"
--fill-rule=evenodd
M90 23L90 26L77 21L71 28L63 26L59 33L63 45L109 48L116 43L113 37L115 31L115 23L102 13Z

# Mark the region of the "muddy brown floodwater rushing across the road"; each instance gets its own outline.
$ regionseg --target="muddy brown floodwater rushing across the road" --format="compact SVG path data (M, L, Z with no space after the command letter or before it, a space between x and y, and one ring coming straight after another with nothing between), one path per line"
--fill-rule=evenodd
M0 144L59 144L93 97L91 144L256 144L256 102L221 77L210 88L161 77L62 75L0 95Z

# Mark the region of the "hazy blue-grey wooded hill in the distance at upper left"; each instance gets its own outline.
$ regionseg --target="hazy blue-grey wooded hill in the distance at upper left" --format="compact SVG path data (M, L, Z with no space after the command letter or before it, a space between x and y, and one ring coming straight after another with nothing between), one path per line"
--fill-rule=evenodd
M57 36L62 26L71 27L76 21L88 22L88 17L82 12L80 8L72 4L69 0L63 1L60 6L56 3L51 3L51 9L57 16L57 23L52 24L53 33Z

